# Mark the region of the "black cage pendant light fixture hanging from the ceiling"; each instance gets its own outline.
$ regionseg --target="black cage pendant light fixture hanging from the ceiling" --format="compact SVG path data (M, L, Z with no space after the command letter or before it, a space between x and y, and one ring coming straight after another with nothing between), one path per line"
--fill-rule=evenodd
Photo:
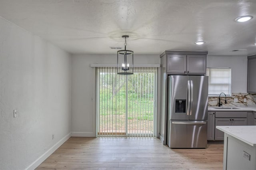
M125 39L124 50L117 51L117 74L132 75L133 74L133 51L127 50L126 38L129 36L122 36Z

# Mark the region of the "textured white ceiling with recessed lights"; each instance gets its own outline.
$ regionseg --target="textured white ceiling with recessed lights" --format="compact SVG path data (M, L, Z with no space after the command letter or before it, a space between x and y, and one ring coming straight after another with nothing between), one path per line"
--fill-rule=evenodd
M0 0L0 16L70 53L116 53L129 35L134 54L256 54L256 0Z

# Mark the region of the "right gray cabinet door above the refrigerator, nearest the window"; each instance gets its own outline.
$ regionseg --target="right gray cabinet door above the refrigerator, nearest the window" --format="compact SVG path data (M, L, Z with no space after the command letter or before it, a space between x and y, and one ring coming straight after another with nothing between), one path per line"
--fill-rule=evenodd
M206 73L206 55L187 55L187 73Z

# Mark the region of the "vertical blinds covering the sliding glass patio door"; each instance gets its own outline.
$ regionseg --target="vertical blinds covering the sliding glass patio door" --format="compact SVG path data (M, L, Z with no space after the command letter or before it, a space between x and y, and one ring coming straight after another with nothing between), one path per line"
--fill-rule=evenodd
M153 136L156 68L135 67L118 75L116 67L98 67L98 136Z

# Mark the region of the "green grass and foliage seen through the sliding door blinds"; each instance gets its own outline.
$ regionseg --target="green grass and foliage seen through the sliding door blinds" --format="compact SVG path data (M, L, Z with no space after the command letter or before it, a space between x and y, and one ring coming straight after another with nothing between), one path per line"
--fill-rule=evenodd
M144 75L146 75L146 77L141 79L141 77L143 77ZM115 74L102 73L101 76L102 77L100 77L99 82L100 115L125 115L125 84L128 83L128 117L130 117L130 119L135 118L138 120L153 120L154 83L151 83L154 77L153 73L134 73L133 78L132 76L128 77L128 82L126 82L126 77L117 77L116 79ZM117 83L113 83L115 81ZM150 112L152 114L147 114L147 112ZM142 115L141 113L144 113L144 115Z

